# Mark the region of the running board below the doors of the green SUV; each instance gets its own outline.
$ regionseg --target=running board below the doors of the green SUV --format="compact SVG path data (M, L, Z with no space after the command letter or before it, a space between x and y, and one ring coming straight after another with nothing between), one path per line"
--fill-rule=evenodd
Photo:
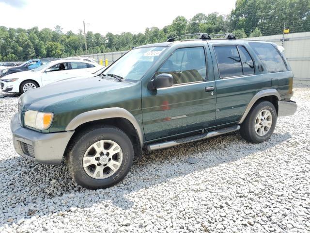
M206 139L206 138L210 138L210 137L215 137L215 136L218 136L218 135L221 135L224 133L231 133L231 132L237 131L239 129L240 129L240 125L231 126L231 127L224 128L224 129L210 131L208 133L203 133L200 135L185 137L185 138L181 138L181 139L177 139L177 140L173 140L173 141L150 144L150 145L147 145L146 149L151 151L151 150L164 149L164 148L168 148L168 147L174 147L177 145L181 145L183 143L194 142L194 141L198 141L198 140L202 140L202 139Z

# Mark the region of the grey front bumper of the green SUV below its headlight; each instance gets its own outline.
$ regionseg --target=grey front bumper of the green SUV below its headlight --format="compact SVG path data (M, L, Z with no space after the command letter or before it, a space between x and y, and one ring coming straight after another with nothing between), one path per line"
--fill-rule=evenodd
M64 150L74 133L40 133L21 127L16 113L11 120L11 131L15 151L41 164L60 164Z

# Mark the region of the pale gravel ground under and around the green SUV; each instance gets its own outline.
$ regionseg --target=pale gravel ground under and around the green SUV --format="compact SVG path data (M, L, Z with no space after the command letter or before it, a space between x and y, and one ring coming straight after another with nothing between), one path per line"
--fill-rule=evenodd
M268 141L239 133L149 152L123 182L96 191L66 166L13 149L17 98L0 99L0 232L310 232L310 86ZM193 158L190 161L188 158Z

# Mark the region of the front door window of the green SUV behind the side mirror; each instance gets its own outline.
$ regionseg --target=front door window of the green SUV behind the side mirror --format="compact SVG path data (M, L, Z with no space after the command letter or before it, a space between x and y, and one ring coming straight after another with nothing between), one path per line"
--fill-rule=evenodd
M203 81L206 77L204 49L197 47L175 50L156 75L161 73L171 74L173 84Z

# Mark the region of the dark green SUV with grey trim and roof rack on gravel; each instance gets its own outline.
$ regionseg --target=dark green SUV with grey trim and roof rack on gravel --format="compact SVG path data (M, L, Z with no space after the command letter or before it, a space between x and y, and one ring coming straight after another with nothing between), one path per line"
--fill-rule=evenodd
M240 131L261 143L293 115L293 72L276 44L196 39L144 45L92 77L20 96L12 118L18 154L66 160L72 178L98 189L120 182L143 150Z

